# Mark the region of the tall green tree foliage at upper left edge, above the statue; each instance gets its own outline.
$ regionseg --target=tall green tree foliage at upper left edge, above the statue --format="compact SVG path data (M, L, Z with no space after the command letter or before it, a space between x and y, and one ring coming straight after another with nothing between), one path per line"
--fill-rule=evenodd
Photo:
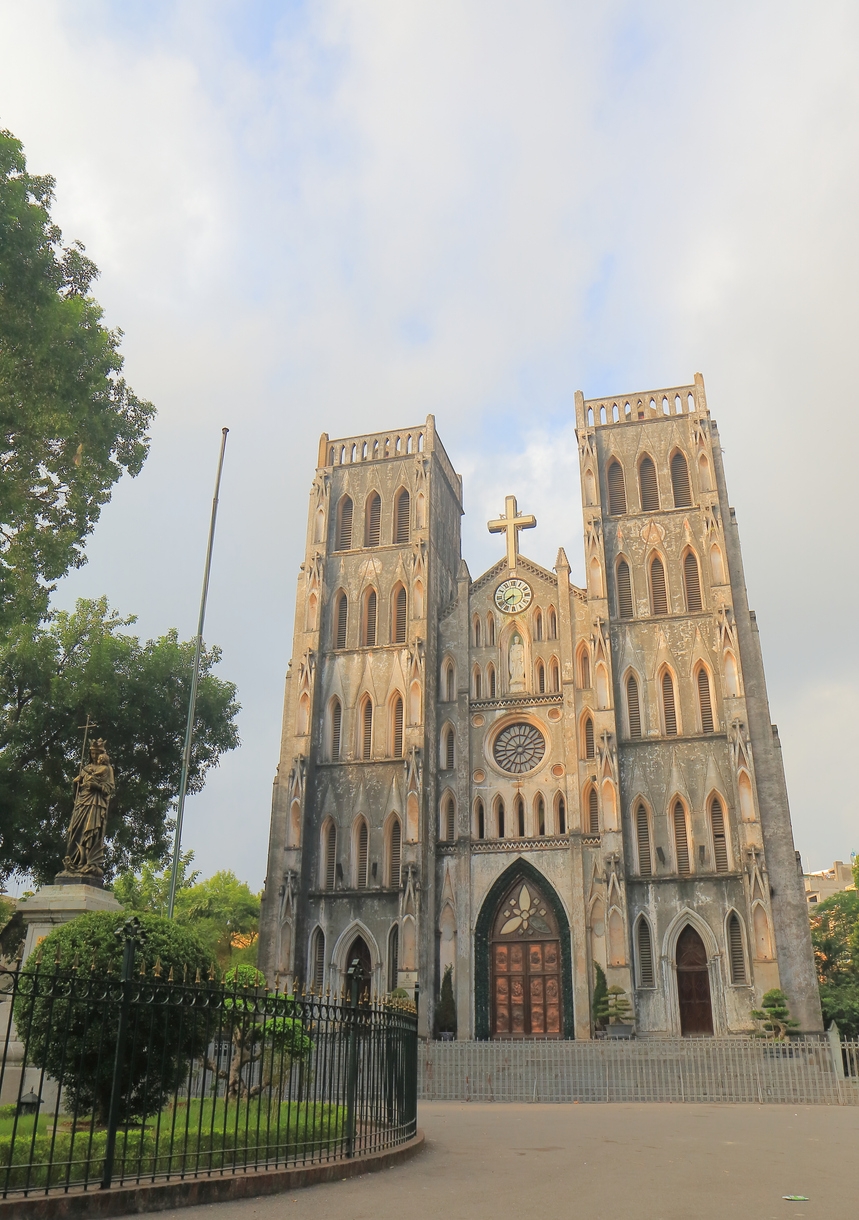
M62 245L54 185L0 131L0 631L38 622L54 582L84 562L155 414L121 377L122 332L89 292L95 264Z

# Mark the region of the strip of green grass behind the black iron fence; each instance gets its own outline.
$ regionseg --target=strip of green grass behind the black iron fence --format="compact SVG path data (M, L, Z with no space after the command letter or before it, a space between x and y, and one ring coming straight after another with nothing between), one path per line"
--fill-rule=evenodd
M121 1128L116 1141L115 1180L178 1172L206 1172L271 1161L321 1159L334 1153L344 1130L344 1109L298 1103L250 1100L227 1104L192 1100L149 1119L144 1127ZM26 1126L27 1124L27 1126ZM20 1119L11 1143L11 1121L0 1120L0 1183L7 1188L60 1186L98 1181L107 1132L89 1119L77 1127L60 1116L54 1131L48 1119L39 1130L31 1163L33 1119ZM52 1164L48 1165L51 1141Z

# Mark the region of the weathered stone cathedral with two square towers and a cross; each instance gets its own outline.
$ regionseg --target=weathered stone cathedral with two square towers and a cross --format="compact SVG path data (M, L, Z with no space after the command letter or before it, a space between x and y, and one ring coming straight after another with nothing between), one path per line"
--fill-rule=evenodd
M703 378L576 394L586 587L509 495L461 556L423 425L320 439L275 780L260 961L339 991L451 972L459 1038L822 1027L760 640ZM567 525L567 522L565 522ZM599 967L599 969L598 969Z

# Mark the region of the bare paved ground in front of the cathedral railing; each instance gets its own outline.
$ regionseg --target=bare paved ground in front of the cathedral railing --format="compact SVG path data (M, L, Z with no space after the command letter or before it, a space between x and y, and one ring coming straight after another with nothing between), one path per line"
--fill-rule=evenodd
M425 1102L382 1174L174 1220L832 1220L855 1215L859 1108ZM807 1194L787 1203L783 1194Z

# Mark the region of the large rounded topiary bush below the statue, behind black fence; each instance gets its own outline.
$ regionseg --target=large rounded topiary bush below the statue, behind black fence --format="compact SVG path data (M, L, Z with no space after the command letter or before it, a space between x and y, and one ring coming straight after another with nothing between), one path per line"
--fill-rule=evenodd
M104 911L56 928L41 942L40 964L35 956L24 964L15 1002L15 1024L29 1063L62 1082L67 1109L92 1113L96 1122L106 1122L110 1107L124 948L116 933L126 919L123 911ZM138 1002L121 1077L126 1122L160 1110L188 1061L203 1053L205 1009L170 1004L170 989L185 977L193 981L198 971L206 978L215 965L189 928L159 915L140 915L139 921L145 942L134 959L132 996Z

